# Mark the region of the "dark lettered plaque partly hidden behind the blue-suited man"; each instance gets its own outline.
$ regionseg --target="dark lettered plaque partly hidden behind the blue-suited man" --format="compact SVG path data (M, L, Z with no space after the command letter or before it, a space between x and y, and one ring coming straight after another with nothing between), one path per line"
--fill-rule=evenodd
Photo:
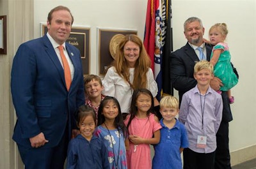
M47 33L47 25L41 23L41 36ZM72 26L67 42L81 53L83 75L90 74L90 27Z

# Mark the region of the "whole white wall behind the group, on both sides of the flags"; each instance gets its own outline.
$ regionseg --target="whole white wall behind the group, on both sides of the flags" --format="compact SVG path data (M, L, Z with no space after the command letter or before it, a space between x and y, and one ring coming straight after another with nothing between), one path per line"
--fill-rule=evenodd
M217 22L228 26L227 43L232 62L239 71L239 84L232 89L236 102L231 105L234 121L230 122L230 151L256 145L256 1L255 0L172 0L173 47L186 43L183 24L188 17L199 17L208 38L209 27ZM137 30L143 38L147 0L35 0L35 38L40 36L40 22L57 5L68 6L74 26L91 27L90 72L97 72L97 27ZM177 92L175 92L177 96Z

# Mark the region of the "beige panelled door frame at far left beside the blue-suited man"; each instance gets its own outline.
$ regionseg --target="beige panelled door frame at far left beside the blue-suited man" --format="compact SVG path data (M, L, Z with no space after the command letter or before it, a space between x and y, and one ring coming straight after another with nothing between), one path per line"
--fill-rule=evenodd
M0 15L7 15L7 54L0 55L0 168L23 168L12 140L15 112L10 94L12 59L20 43L33 38L33 1L0 1Z

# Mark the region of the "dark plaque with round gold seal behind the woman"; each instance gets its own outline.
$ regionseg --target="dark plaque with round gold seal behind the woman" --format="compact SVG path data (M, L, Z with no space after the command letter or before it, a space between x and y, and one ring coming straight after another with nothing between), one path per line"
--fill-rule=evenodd
M106 70L115 59L116 47L126 34L137 34L134 30L107 29L98 27L99 75L104 76Z

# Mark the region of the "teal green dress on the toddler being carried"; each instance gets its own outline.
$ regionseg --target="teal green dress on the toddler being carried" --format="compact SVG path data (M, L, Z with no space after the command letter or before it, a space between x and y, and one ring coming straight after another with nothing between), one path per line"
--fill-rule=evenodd
M221 52L218 62L214 66L214 76L220 78L223 83L220 91L228 91L237 84L238 79L230 64L231 55L227 44L218 43L212 48L212 54L214 50L218 49L223 49L223 52Z

